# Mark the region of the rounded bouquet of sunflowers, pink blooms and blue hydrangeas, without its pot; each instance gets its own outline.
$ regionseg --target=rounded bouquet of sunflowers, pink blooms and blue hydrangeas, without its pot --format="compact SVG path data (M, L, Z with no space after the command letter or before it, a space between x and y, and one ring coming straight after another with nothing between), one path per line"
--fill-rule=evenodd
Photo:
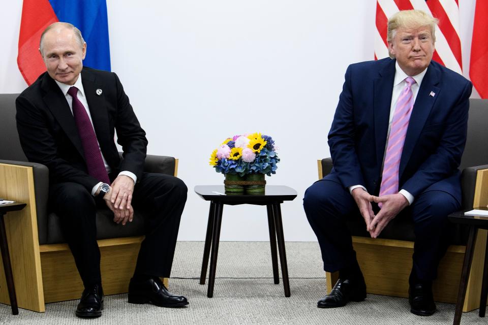
M276 174L280 161L275 141L260 133L227 138L210 155L210 166L218 173L245 176L248 174Z

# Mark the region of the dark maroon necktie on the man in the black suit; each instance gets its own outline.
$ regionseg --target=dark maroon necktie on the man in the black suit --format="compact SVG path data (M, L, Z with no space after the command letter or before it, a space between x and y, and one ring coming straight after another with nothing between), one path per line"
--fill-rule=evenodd
M68 90L68 94L70 94L73 99L73 116L75 117L75 123L78 127L81 145L83 146L88 174L101 182L110 184L107 170L105 169L105 164L103 163L102 152L98 146L95 130L93 129L93 125L90 122L90 118L88 117L83 104L81 104L77 97L78 88L71 87Z

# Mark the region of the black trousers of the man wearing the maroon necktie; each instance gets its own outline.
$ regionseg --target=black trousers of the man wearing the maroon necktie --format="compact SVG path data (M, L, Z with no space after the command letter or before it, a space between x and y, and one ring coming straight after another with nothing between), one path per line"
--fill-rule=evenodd
M49 200L50 209L60 218L83 284L101 283L95 218L97 209L106 208L106 204L96 203L92 194L77 183L51 185ZM170 276L186 200L187 186L173 176L144 173L135 185L132 206L141 212L145 230L136 275Z

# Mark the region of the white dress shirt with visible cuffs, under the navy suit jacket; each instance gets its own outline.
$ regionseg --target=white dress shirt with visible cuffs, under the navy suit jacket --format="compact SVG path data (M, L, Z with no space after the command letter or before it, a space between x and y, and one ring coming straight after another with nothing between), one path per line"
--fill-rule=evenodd
M427 72L429 67L425 68L424 71L419 73L418 75L412 76L415 79L415 83L411 86L412 93L413 93L413 102L417 99L418 89L420 88L420 84L422 83L423 77ZM388 148L388 138L390 135L390 128L391 128L391 121L393 120L393 115L395 113L396 102L398 101L400 94L402 93L403 89L406 86L405 79L407 79L408 75L400 68L398 65L398 61L395 62L395 78L393 79L393 92L391 93L391 105L390 105L390 117L388 121L388 133L386 135L386 146L385 146L385 155L386 155L386 148ZM381 170L383 171L383 164L385 161L385 157L383 156L383 163L381 165ZM366 188L362 185L353 185L349 186L349 191L352 193L352 190L355 188L361 187L364 190ZM414 197L411 193L406 191L405 189L400 189L399 193L401 193L407 200L409 204L413 203Z

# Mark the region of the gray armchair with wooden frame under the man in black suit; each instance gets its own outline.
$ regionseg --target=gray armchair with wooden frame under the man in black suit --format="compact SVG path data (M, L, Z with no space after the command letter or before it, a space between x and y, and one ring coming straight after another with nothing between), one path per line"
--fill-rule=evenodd
M15 121L17 96L0 94L0 197L27 203L22 211L9 213L5 222L18 305L43 312L45 303L79 299L83 286L59 217L48 210L49 171L44 165L29 163L20 147ZM173 157L147 155L144 170L176 176L177 167L178 160ZM134 221L123 226L112 221L108 210L97 212L106 295L128 290L143 239L139 213L134 211ZM0 302L8 304L5 278L0 273Z

